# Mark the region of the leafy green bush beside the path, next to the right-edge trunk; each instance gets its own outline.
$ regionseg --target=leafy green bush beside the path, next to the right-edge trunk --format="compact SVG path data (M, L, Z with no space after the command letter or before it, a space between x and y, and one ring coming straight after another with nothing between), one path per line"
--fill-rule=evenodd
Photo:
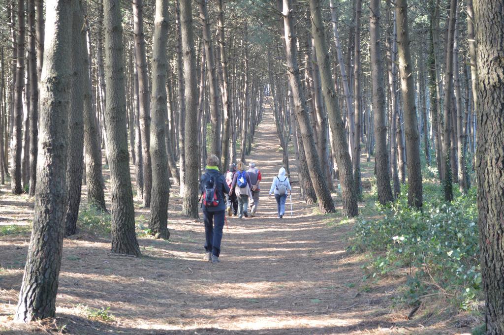
M452 203L436 191L427 187L422 212L407 206L404 191L395 203L376 205L382 218L358 222L351 249L370 253L366 277L409 268L408 303L435 291L471 309L481 285L476 190Z

